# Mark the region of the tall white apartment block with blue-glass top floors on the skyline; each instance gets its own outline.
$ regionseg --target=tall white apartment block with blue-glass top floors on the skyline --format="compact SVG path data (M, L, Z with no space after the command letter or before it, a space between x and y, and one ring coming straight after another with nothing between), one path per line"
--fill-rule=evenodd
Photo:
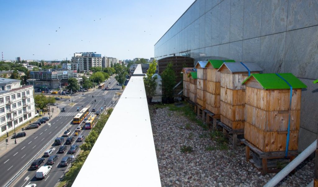
M79 70L79 72L86 72L92 67L101 67L101 54L96 52L81 52L74 53L71 59L72 69Z

